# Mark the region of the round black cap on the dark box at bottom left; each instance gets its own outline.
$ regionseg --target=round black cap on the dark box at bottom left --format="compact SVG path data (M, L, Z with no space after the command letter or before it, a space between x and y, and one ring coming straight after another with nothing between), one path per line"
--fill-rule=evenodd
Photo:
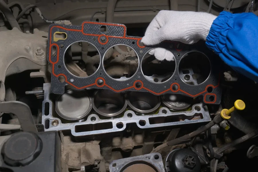
M42 141L37 134L18 132L3 145L1 154L10 166L25 166L34 161L42 150Z

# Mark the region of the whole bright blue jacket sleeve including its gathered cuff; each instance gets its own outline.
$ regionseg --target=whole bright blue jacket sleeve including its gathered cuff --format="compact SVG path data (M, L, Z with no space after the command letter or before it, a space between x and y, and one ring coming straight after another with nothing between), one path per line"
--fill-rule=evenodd
M258 17L226 11L213 21L206 46L235 71L258 82Z

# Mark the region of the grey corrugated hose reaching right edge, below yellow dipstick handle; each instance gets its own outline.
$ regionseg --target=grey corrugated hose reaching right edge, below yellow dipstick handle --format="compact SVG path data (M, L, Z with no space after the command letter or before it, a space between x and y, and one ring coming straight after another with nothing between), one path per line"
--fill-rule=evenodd
M224 145L222 145L220 148L218 148L216 150L216 154L222 154L226 149L230 148L230 147L233 147L233 146L236 146L237 144L240 144L242 142L245 142L246 140L254 137L254 136L257 136L258 135L258 130L254 130L252 131L251 133L249 134L246 134L230 143L226 143ZM215 166L215 162L216 162L216 159L213 158L211 161L210 161L210 172L213 172L214 171L214 166Z

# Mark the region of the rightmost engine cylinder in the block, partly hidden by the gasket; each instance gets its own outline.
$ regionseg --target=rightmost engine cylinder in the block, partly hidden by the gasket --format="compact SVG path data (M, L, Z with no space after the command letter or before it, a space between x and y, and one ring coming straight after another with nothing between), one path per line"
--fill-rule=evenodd
M163 94L161 95L162 104L171 111L187 110L193 103L193 98L181 94Z

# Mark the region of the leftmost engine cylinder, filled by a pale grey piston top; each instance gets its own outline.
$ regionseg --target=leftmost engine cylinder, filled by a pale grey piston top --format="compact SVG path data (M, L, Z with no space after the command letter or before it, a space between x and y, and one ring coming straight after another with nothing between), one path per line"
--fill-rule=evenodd
M69 89L56 98L56 113L65 120L80 120L91 108L91 97L85 91Z

